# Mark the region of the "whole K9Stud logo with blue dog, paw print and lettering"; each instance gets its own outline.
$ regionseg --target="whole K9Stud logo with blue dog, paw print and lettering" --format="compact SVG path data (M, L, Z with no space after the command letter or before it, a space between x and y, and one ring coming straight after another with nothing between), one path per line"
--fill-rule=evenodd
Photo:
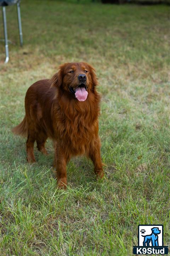
M133 254L168 254L163 244L163 225L138 225L138 246Z

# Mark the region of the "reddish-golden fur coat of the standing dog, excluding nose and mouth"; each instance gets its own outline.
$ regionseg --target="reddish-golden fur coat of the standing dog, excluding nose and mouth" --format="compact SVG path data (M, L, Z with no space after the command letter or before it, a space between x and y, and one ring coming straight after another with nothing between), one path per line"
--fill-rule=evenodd
M74 70L70 74L69 70ZM86 71L88 73L85 73ZM86 74L88 96L78 101L69 86L75 88L78 75ZM94 68L87 63L66 63L60 66L51 80L40 80L26 93L26 116L13 128L13 133L27 135L27 161L35 162L34 142L47 154L45 142L50 137L55 143L57 184L66 187L66 165L72 156L85 154L94 163L98 177L103 177L98 137L100 95L96 92L97 79Z

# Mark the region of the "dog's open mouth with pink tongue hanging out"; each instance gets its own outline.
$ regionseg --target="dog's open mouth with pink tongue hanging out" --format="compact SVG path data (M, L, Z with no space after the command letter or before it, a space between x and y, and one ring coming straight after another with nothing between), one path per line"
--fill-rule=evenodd
M79 101L85 101L88 95L87 87L84 83L79 84L75 89L69 87L69 90Z

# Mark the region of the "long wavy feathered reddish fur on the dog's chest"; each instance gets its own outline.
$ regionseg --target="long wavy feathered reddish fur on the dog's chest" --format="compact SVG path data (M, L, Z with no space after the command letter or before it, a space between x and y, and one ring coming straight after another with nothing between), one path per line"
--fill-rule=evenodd
M99 112L99 102L95 98L86 102L59 102L54 107L53 118L56 139L64 148L72 149L75 154L83 154L86 146L98 134Z

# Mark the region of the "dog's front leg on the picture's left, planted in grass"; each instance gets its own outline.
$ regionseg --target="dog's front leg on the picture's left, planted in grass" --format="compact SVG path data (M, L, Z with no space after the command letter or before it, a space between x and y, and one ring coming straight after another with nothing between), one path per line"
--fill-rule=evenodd
M59 188L66 189L67 186L66 165L68 160L69 157L66 155L63 148L60 146L60 143L57 143L55 147L55 177L57 178L57 185Z

